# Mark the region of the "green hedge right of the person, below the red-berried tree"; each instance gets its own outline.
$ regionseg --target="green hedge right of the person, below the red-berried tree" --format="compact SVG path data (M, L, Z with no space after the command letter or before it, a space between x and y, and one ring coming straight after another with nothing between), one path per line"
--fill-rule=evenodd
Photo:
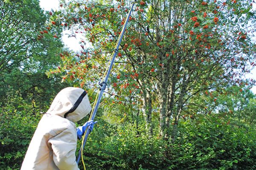
M179 125L175 142L148 136L145 124L95 128L85 147L88 169L95 170L253 170L256 131L217 116ZM106 127L108 131L105 132ZM110 130L112 132L110 132ZM157 133L156 133L157 134Z

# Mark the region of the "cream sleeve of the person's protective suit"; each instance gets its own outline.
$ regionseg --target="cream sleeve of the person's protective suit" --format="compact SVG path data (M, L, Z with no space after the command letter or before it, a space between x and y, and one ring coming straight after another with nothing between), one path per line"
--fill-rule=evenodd
M79 170L76 163L77 136L74 128L67 128L48 142L52 146L53 161L60 170Z

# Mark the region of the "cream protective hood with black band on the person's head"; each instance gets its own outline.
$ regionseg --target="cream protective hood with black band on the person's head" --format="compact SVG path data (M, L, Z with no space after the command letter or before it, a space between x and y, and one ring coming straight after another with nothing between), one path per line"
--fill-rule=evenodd
M55 96L47 113L77 122L89 114L91 110L86 91L81 88L68 87L62 89Z

